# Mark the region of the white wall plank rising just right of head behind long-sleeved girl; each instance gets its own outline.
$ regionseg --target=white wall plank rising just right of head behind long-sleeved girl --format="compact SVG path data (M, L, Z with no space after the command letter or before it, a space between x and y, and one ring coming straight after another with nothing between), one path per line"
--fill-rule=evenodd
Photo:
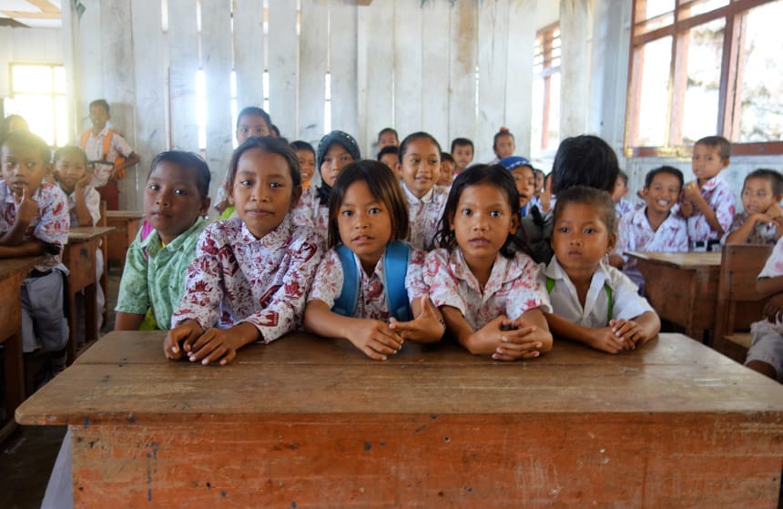
M299 132L297 87L299 36L296 33L296 2L269 0L269 115L284 137Z

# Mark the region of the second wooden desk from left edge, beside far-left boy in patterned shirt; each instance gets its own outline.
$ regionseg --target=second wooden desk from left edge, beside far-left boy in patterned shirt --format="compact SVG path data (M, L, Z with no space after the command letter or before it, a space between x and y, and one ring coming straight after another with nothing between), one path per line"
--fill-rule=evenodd
M68 230L68 243L63 249L63 264L68 274L68 363L76 359L76 294L85 291L85 344L96 341L96 251L102 237L112 227L75 227Z

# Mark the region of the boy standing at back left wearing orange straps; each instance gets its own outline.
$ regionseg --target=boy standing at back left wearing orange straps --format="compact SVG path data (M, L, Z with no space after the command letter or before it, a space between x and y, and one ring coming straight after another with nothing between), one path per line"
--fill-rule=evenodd
M106 200L107 209L119 209L119 189L117 180L125 176L126 168L138 162L133 148L114 129L107 127L109 107L106 99L97 99L90 103L90 122L92 129L82 135L81 148L86 152L92 165L91 185Z

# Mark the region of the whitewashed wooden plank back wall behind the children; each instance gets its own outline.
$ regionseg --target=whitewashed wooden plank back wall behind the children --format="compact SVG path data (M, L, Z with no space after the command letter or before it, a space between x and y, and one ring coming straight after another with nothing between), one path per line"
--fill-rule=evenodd
M81 18L71 11L74 97L81 113L74 136L89 127L89 101L106 97L115 126L142 158L137 174L129 172L121 184L121 207L140 209L151 158L167 148L199 149L201 69L208 97L205 155L214 190L235 131L233 69L238 109L263 107L269 97L273 122L291 139L316 145L330 124L357 137L362 155L374 158L378 131L391 126L401 137L428 131L447 151L453 137L472 138L475 160L489 161L493 134L506 126L517 138L517 151L527 153L536 0L357 4L113 0L90 3Z

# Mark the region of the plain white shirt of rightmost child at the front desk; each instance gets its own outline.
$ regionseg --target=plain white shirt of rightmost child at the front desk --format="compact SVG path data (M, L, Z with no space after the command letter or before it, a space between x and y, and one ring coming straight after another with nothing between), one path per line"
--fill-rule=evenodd
M633 281L625 274L611 267L605 261L598 264L590 280L585 306L579 302L576 287L568 274L554 256L549 265L541 265L539 282L547 286L549 279L552 290L549 299L552 302L552 312L567 321L584 327L598 328L609 325L612 320L633 320L646 311L653 311L647 300L638 294ZM607 287L610 290L607 292ZM609 293L612 295L612 309L609 309ZM654 311L655 312L655 311Z

